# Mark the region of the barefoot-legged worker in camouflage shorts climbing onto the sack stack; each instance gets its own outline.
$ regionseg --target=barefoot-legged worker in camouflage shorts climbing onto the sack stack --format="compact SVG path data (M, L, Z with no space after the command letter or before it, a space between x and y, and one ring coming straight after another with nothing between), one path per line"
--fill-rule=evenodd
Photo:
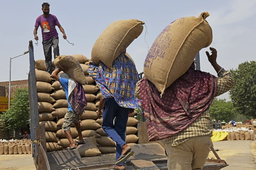
M84 143L79 116L83 113L84 108L87 105L87 101L82 85L71 79L66 73L60 73L58 76L60 71L62 70L59 68L55 69L51 77L59 81L62 89L65 91L68 107L64 117L62 129L70 142L70 146L67 147L66 150L71 150L76 149L77 144ZM73 140L70 131L72 123L75 123L78 132L78 140L76 139L75 141Z

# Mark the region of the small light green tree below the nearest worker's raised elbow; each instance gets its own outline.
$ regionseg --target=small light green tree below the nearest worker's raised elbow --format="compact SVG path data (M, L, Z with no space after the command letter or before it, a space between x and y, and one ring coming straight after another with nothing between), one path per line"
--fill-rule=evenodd
M233 119L235 112L233 103L226 101L226 99L217 99L215 97L210 105L210 116L212 119L229 121Z

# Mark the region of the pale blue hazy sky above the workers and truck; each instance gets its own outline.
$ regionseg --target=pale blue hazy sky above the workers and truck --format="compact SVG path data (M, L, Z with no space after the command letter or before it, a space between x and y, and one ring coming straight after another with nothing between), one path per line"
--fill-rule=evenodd
M42 15L42 3L50 3L50 14L55 15L64 28L67 40L59 33L60 55L83 54L91 58L92 47L112 22L138 19L145 22L141 35L135 39L128 52L138 73L143 72L146 55L159 35L171 22L182 17L198 17L203 11L210 16L206 21L213 30L213 41L209 47L217 49L217 62L226 70L237 69L243 62L256 60L256 0L8 0L3 1L0 14L0 82L9 81L11 59L11 81L25 80L29 73L29 40L33 41L34 59L44 59L41 29L38 29L38 46L34 40L36 18ZM215 76L217 73L208 62L205 51L200 50L200 68ZM16 57L21 55L19 57ZM14 58L16 57L16 58ZM228 92L219 99L230 100Z

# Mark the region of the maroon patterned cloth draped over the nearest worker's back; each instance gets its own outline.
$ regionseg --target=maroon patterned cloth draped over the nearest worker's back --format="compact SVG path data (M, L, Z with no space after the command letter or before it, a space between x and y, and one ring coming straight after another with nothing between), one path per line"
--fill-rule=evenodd
M157 141L181 132L210 106L217 90L217 78L195 70L193 63L162 97L146 78L139 86L149 140Z

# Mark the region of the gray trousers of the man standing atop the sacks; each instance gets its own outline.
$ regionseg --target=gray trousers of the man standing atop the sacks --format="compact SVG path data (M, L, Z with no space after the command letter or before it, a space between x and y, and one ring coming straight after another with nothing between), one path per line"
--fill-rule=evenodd
M43 44L43 51L45 57L45 64L46 64L46 71L52 74L52 46L53 46L53 54L54 58L60 55L59 52L59 38L54 37L50 40L46 40L42 42Z

